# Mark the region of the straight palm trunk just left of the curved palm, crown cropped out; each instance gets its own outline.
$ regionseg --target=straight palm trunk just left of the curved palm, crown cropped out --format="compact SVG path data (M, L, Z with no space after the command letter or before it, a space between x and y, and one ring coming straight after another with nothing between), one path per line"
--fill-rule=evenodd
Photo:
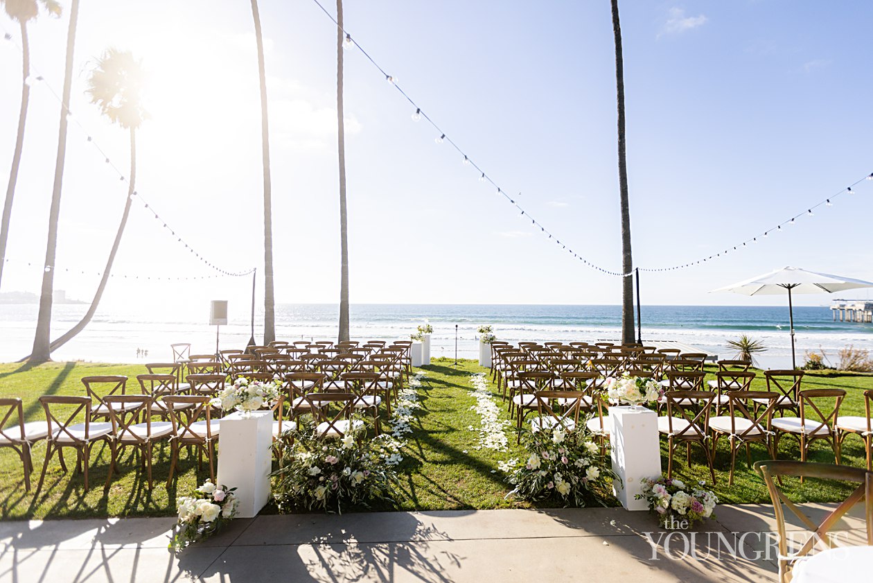
M66 35L66 65L64 70L64 91L61 96L60 124L58 126L58 156L55 159L55 177L52 187L52 206L49 210L49 233L45 243L45 265L51 266L43 272L42 294L39 297L39 316L37 331L33 337L33 350L27 357L30 362L42 363L50 360L52 350L49 340L52 334L52 294L54 293L55 254L58 249L58 217L60 216L61 186L64 182L64 163L66 158L67 112L70 107L70 88L72 87L72 56L76 47L76 24L79 20L79 0L72 0L70 6L70 26Z

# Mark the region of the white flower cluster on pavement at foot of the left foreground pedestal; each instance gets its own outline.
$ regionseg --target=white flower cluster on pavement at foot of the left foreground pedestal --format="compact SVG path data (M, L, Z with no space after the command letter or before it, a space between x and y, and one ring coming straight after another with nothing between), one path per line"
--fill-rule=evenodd
M236 488L219 486L211 480L175 500L179 514L176 531L169 548L182 551L191 543L210 538L237 516L239 500L234 495Z

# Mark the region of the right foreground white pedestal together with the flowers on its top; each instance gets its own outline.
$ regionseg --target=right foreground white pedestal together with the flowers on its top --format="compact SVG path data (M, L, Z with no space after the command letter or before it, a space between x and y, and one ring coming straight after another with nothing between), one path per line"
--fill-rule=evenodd
M656 401L660 389L654 381L633 378L607 379L610 400L625 403ZM657 414L643 406L609 407L609 445L612 471L621 480L613 482L613 492L626 510L649 510L642 480L661 475L661 448L657 433Z

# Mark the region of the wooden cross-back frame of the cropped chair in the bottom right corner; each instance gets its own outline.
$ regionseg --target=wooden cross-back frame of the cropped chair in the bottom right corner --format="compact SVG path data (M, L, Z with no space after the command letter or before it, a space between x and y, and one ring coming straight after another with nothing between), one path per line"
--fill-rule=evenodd
M755 471L764 478L767 492L773 503L773 514L776 517L776 528L779 533L779 580L780 583L789 583L792 580L792 570L799 559L808 557L816 546L821 549L834 548L834 540L828 536L830 530L845 514L863 501L864 524L866 526L867 545L873 545L873 472L862 468L847 468L846 466L832 466L827 463L811 462L788 462L782 460L766 460L755 462ZM783 476L815 478L819 480L838 480L841 482L853 482L859 484L849 496L842 501L834 510L816 523L813 519L779 489L773 478L781 482ZM806 531L812 536L800 545L800 539L796 536L790 538L791 543L797 543L793 548L789 547L789 538L785 525L785 510L787 506L795 517L801 520ZM800 546L800 548L797 548Z

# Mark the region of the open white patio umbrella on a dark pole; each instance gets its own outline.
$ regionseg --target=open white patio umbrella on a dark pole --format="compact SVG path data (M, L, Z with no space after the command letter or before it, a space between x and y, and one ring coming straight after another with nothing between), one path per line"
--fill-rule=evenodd
M807 271L800 267L782 267L769 274L759 275L750 280L739 281L724 288L713 289L715 292L732 292L742 295L774 295L788 291L788 318L791 322L791 364L797 368L794 360L794 307L791 295L794 294L833 294L844 289L873 288L870 281L854 280L850 277L820 274Z

